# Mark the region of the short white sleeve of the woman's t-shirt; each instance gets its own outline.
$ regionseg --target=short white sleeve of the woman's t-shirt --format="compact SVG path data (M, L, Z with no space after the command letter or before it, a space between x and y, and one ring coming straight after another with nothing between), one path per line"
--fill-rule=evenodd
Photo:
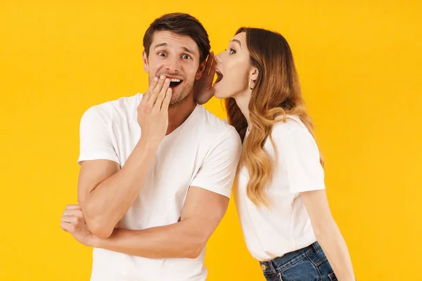
M292 129L277 141L278 161L286 169L290 192L325 189L319 150L306 129Z

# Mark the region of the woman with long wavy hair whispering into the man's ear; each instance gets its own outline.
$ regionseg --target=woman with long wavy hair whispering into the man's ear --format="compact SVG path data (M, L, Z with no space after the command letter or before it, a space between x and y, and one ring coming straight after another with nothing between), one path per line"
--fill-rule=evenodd
M210 54L196 86L198 103L226 99L243 141L234 200L267 280L355 280L286 39L241 28L226 51Z

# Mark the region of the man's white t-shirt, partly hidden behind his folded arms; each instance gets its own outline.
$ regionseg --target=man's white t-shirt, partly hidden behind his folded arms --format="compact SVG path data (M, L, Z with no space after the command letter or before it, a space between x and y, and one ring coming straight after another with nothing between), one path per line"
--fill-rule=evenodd
M136 107L141 93L90 107L80 123L84 160L108 159L123 166L141 136ZM165 136L139 196L118 223L142 230L177 223L189 186L230 197L241 152L233 126L202 105ZM203 281L205 248L197 259L146 259L94 249L91 281Z

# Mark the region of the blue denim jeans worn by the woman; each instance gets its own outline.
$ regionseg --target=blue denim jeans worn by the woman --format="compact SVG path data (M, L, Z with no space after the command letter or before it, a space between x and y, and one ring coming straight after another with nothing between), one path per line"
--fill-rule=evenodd
M260 264L267 281L337 281L318 242Z

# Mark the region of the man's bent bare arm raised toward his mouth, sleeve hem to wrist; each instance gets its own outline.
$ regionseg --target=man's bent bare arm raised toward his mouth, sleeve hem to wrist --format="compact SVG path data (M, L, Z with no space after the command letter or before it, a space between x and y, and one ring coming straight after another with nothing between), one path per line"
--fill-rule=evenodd
M78 181L78 202L91 233L108 237L132 206L151 167L158 145L139 141L120 169L110 160L85 161Z

